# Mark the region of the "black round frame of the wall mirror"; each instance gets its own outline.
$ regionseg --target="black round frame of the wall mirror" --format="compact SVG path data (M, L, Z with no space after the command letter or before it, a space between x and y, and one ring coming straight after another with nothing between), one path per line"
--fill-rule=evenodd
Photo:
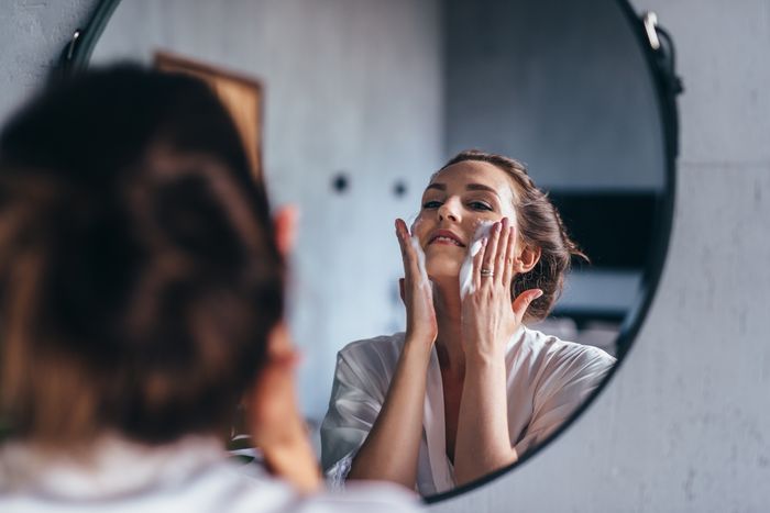
M573 424L575 419L582 415L596 397L602 393L625 361L625 356L639 333L641 324L647 317L647 313L652 304L654 293L658 290L660 277L666 264L673 223L676 187L675 170L676 157L679 156L679 112L676 108L676 97L683 91L683 88L675 73L673 41L666 30L657 26L656 14L648 12L638 15L631 8L629 0L616 0L616 2L624 12L626 21L628 22L628 27L635 34L639 47L645 54L645 62L647 63L647 68L653 80L658 100L657 109L662 126L661 136L663 137L663 148L666 153L666 188L660 196L659 208L656 213L657 219L653 224L658 237L649 248L648 264L641 280L640 299L626 315L616 341L619 347L617 364L607 373L602 384L586 398L583 404L581 404L581 406L536 449L527 453L515 464L491 472L471 483L425 498L425 502L428 504L451 499L497 479L514 468L524 465L565 432ZM65 44L57 67L59 76L67 76L88 67L94 47L119 3L120 0L99 0L86 29L78 29L75 31L72 40Z

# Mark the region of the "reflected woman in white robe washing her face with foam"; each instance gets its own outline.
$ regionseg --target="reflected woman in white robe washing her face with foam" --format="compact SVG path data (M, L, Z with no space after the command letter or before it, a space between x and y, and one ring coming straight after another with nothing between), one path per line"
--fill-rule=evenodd
M397 220L396 235L406 333L339 353L322 462L337 483L427 495L515 462L615 360L526 327L582 254L518 161L461 153L431 178L411 234Z

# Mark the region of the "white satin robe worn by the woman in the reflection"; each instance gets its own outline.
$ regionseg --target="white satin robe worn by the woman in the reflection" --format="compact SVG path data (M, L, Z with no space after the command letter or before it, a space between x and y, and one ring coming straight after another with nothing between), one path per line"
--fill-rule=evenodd
M377 419L404 335L353 342L338 353L329 411L321 425L321 461L332 486L342 486L353 457ZM508 432L520 457L580 406L615 358L600 348L522 326L509 341L505 361ZM428 366L422 415L416 489L430 495L455 486L446 450L443 387L436 348Z

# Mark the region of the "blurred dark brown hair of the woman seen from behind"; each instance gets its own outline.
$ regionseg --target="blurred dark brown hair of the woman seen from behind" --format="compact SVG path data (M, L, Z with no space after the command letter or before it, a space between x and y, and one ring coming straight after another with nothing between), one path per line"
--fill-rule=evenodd
M193 78L51 86L0 137L0 416L70 447L224 433L283 313L235 127Z

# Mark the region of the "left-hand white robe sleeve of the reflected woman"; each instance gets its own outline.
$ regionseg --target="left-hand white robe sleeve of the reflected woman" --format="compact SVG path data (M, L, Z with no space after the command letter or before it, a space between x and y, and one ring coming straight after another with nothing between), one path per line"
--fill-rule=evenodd
M344 488L353 458L385 401L387 379L376 359L340 352L329 411L321 424L321 464L332 489Z

